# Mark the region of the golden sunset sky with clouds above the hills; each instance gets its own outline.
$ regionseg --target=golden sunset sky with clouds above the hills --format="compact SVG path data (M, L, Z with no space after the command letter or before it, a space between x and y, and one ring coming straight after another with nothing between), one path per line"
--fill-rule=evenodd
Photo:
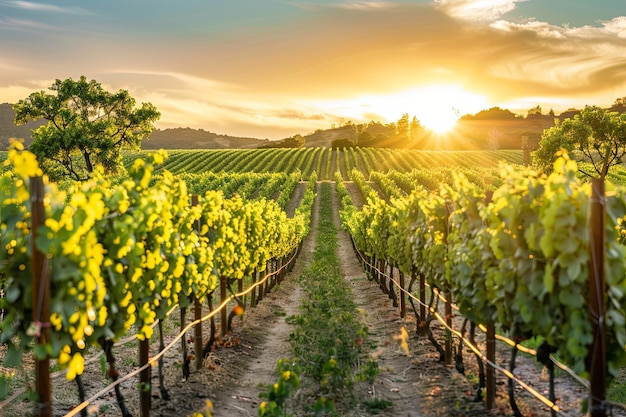
M0 103L80 76L158 128L281 139L626 96L625 0L0 0Z

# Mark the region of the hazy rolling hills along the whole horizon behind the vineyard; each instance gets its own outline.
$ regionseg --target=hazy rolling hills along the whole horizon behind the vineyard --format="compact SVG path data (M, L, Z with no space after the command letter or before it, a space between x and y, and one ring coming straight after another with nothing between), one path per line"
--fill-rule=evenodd
M492 110L492 109L490 109ZM499 109L500 110L500 109ZM624 111L622 108L610 110ZM480 113L488 113L483 111ZM556 118L563 120L572 117L574 112L562 113L559 116L539 115L538 117L509 117L484 118L464 116L457 122L454 130L446 136L426 134L419 144L408 144L408 147L423 149L462 150L462 149L520 149L522 137L527 137L531 147L536 147L541 139L544 129L554 126ZM10 138L23 139L24 144L32 143L31 129L44 124L44 121L34 121L22 126L14 123L15 112L9 103L0 104L0 150L6 150ZM360 130L370 131L374 136L377 134L387 135L389 139L381 140L374 146L378 147L407 147L397 137L390 134L392 124L370 122L364 124L347 123L343 126L329 129L318 129L315 132L301 134L305 140L305 147L331 147L334 141L347 140L357 143L357 132ZM169 129L155 129L147 140L144 140L141 148L151 149L231 149L231 148L258 148L276 146L280 147L282 141L269 140L254 137L232 136L228 134L214 133L204 129L189 127L177 127ZM406 139L405 139L406 140ZM357 143L358 144L358 143ZM371 146L371 145L370 145Z

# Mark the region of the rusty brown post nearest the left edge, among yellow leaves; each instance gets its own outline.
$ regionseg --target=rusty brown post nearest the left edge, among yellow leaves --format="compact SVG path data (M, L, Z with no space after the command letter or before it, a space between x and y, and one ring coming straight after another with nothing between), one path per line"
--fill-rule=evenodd
M50 277L46 266L46 255L37 249L37 231L45 222L43 207L44 189L41 177L30 178L31 223L31 274L33 283L33 324L39 332L37 343L50 343ZM50 384L50 357L35 356L35 383L37 407L35 415L52 416L52 388Z

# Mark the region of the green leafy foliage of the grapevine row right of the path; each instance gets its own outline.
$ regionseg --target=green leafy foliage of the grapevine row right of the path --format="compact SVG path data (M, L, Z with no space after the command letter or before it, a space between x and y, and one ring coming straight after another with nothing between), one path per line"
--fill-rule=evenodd
M594 340L589 270L602 260L588 252L591 186L577 172L567 156L549 176L505 165L491 199L452 172L452 181L435 191L417 186L389 201L370 198L360 211L346 203L342 224L365 255L424 275L474 323L493 322L517 341L543 339L548 351L587 376ZM626 190L610 188L604 320L613 378L626 360Z

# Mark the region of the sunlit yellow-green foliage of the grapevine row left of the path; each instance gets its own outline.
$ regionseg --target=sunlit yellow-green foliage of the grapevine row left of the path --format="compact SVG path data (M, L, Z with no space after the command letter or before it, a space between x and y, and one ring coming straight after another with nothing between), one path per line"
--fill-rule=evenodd
M176 304L202 301L217 277L240 279L286 256L308 232L309 210L288 218L273 200L225 198L207 191L192 205L185 182L163 170L165 152L134 160L112 184L102 172L69 191L46 185L46 218L37 248L47 255L50 323L33 319L30 177L37 161L14 144L0 176L0 288L5 292L0 343L4 365L17 366L34 347L57 359L67 378L83 371L84 353L104 340L152 325ZM34 343L43 326L50 343Z

